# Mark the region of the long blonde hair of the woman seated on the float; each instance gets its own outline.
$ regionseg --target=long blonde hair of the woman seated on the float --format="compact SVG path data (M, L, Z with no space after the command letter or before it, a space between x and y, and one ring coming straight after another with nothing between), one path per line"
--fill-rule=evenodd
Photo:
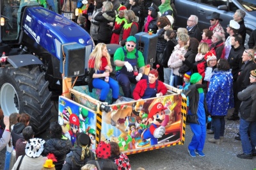
M101 63L102 63L100 60L102 58L102 50L104 49L104 47L107 47L107 45L105 43L98 43L96 45L95 49L90 54L90 59L95 59L93 68L96 72L100 71L100 67L101 67ZM108 52L107 52L106 58L108 61L108 66L110 68L112 68L111 61L110 61L110 55ZM90 68L92 68L92 66L90 66Z

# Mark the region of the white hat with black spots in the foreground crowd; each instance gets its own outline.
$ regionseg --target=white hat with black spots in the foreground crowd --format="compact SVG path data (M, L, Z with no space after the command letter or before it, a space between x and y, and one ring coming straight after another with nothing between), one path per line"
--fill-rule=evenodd
M26 144L25 153L30 158L38 158L41 153L44 151L44 139L33 138L29 139Z

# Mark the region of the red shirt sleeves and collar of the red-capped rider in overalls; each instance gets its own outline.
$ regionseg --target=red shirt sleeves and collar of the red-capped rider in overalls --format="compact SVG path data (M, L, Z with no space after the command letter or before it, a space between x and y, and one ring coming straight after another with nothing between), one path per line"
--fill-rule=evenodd
M149 83L149 87L150 88L155 88L156 87L156 82L154 82L153 84ZM143 97L146 88L147 88L147 79L140 80L136 84L136 87L134 88L134 91L132 93L132 96L133 96L134 100L138 100L141 97ZM160 92L163 93L163 95L165 95L165 93L167 92L167 88L164 86L163 82L158 81L157 93L160 93Z

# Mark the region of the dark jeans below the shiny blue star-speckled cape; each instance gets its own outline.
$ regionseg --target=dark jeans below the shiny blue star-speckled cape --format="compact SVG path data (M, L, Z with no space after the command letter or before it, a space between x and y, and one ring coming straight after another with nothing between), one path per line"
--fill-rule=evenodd
M220 136L223 136L225 131L224 116L218 118L214 118L214 116L212 116L212 120L214 123L214 139L220 139Z

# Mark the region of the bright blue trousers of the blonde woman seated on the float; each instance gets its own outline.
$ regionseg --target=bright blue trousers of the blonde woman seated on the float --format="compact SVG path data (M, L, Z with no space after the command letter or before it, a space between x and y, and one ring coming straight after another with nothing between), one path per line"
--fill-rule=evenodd
M109 89L112 89L112 97L118 98L119 86L118 83L109 77L109 82L105 82L102 79L93 79L92 81L93 88L101 89L100 91L100 100L106 100Z

